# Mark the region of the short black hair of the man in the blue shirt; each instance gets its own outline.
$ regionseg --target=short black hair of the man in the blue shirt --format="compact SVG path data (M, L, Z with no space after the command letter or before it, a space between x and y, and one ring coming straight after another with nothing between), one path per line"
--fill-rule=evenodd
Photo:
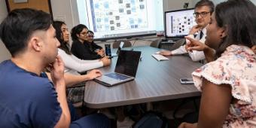
M0 37L5 47L15 56L26 49L27 41L36 30L50 28L50 14L31 8L15 9L0 25Z

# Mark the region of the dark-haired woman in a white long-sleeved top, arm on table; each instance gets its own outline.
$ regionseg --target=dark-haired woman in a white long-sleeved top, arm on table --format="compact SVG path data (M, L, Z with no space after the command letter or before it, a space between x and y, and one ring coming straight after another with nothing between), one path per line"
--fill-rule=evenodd
M53 27L56 29L56 38L60 43L58 53L65 63L65 72L79 75L78 72L86 72L91 69L110 65L111 61L108 57L96 60L78 59L76 56L72 55L69 50L69 30L67 29L66 23L62 21L54 21Z

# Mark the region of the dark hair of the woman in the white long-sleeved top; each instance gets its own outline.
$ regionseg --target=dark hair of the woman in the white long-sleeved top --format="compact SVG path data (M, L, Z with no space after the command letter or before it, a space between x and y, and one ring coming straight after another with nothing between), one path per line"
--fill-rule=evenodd
M53 21L53 28L56 30L56 38L59 40L59 48L64 50L65 53L71 55L71 51L69 50L69 42L65 42L64 38L63 38L63 34L62 34L62 30L61 30L61 26L66 23L64 23L63 21Z

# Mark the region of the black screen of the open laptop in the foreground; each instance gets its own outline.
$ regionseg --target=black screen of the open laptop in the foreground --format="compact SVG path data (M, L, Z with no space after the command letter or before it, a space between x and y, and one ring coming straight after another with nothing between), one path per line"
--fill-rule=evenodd
M135 77L140 56L141 51L120 50L114 72Z

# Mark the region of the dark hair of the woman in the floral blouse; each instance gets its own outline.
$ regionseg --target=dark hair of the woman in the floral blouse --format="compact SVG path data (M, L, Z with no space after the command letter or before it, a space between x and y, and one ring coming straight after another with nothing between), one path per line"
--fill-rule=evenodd
M249 0L229 0L215 8L215 19L219 27L227 28L227 37L218 47L220 55L232 44L252 47L256 44L256 6Z

